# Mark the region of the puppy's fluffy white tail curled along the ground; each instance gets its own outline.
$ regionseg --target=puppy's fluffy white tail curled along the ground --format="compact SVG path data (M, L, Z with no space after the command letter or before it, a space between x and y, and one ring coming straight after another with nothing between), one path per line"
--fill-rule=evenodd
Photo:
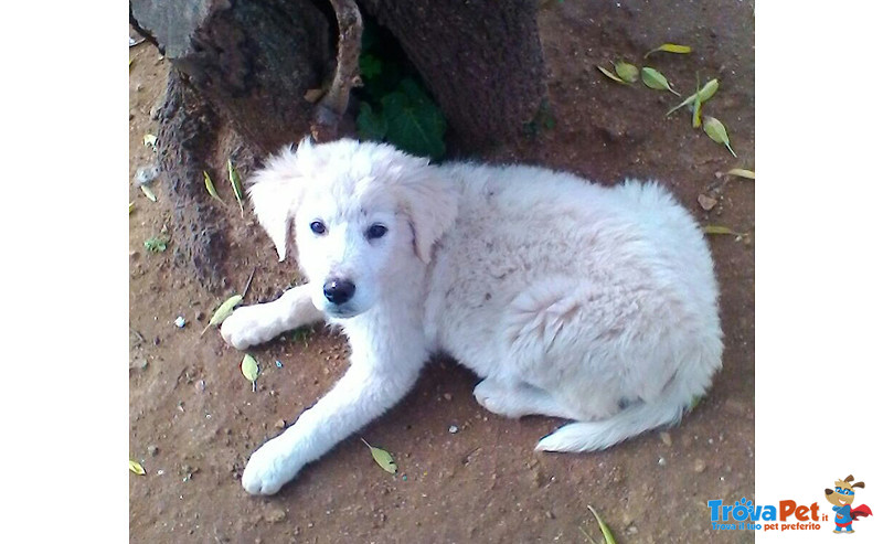
M721 365L720 341L711 342L705 356L700 356L692 369L678 372L649 402L628 406L623 412L598 422L577 422L565 425L544 437L536 445L538 451L595 451L618 444L663 425L680 422L684 412L704 394L711 384L712 374Z

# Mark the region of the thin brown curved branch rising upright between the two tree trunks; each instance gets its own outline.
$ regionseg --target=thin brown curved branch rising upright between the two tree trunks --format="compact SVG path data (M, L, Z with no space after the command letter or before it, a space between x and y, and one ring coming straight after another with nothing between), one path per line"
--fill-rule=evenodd
M317 142L337 139L338 124L350 102L350 89L359 79L362 51L362 15L355 0L329 0L338 19L338 63L331 88L316 107L310 132Z

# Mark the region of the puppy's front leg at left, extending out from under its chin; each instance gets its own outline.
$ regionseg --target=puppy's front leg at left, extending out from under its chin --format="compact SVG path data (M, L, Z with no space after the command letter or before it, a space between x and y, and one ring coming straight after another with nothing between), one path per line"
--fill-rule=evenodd
M310 299L309 284L305 284L288 289L273 302L237 309L224 320L221 335L232 346L244 350L323 318Z

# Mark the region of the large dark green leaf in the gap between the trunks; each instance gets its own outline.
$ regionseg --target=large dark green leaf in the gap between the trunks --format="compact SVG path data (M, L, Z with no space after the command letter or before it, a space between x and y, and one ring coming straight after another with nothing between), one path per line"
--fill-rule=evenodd
M413 79L402 79L398 90L384 96L386 139L403 151L438 159L445 154L445 117Z

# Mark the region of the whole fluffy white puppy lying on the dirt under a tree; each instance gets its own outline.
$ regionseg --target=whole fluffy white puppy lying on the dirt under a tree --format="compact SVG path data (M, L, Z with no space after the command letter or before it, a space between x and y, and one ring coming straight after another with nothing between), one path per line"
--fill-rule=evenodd
M255 213L309 282L236 310L237 349L326 319L350 367L245 468L272 494L376 418L434 353L483 378L508 417L573 419L536 449L588 451L673 424L721 366L703 235L655 183L615 188L529 167L429 166L340 140L283 150L253 178Z

